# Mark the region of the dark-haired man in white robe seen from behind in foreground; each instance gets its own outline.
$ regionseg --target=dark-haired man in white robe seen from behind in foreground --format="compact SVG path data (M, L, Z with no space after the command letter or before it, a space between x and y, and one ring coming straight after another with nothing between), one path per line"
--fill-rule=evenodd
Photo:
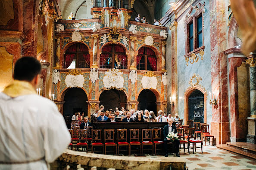
M56 104L35 91L40 74L36 58L22 57L0 93L1 170L47 170L71 141Z

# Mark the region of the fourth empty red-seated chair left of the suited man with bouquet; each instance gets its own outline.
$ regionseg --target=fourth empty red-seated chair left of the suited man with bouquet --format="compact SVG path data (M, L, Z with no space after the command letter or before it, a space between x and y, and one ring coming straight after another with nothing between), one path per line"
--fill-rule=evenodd
M128 155L130 156L130 145L127 142L127 129L117 129L117 154L119 155L119 151L127 151L120 150L120 146L128 146Z

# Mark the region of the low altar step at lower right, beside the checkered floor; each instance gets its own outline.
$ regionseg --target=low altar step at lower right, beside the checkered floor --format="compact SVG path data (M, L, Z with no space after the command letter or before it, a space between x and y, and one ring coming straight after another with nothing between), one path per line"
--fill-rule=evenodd
M216 145L216 147L256 160L256 144L246 142L227 142L226 144Z

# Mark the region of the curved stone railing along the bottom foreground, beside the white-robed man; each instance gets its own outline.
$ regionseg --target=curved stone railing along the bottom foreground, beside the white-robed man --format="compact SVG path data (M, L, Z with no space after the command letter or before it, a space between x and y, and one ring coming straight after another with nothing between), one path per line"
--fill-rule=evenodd
M67 149L59 158L51 164L51 170L78 170L78 164L81 169L91 170L97 167L97 170L107 170L114 168L116 170L185 170L186 161L178 157L128 157L101 155L86 152L78 152ZM79 168L80 170L80 168Z

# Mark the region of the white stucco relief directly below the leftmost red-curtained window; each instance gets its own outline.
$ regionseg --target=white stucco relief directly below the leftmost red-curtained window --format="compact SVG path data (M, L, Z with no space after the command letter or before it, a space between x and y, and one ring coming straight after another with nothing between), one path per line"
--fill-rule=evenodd
M80 87L82 88L84 85L84 76L79 74L77 76L73 76L71 74L68 74L65 79L65 83L67 87Z

